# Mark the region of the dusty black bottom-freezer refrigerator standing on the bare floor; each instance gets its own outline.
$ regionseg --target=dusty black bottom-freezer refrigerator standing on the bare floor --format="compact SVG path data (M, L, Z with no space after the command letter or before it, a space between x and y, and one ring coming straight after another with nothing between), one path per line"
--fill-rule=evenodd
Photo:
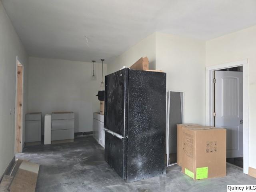
M105 161L127 182L166 173L166 73L105 76Z

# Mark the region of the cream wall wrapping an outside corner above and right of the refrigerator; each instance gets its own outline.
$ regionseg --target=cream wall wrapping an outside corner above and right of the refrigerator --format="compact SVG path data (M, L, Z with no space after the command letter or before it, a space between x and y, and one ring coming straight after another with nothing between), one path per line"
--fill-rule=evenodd
M141 56L167 73L167 90L185 92L184 122L205 125L205 42L156 32L110 62L108 74Z

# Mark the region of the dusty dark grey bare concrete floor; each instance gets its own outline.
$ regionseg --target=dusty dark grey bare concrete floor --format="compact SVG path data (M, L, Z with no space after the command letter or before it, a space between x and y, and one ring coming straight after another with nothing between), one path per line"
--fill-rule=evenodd
M40 164L37 192L226 192L227 184L256 184L235 166L227 165L227 176L194 181L177 165L166 175L126 183L104 161L104 150L91 137L74 143L28 146L16 158Z

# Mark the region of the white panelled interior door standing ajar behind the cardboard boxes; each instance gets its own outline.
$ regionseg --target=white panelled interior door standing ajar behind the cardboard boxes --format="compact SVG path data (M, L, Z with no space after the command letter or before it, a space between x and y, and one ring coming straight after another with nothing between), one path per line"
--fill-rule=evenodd
M227 158L243 157L243 72L215 71L215 126L227 130Z

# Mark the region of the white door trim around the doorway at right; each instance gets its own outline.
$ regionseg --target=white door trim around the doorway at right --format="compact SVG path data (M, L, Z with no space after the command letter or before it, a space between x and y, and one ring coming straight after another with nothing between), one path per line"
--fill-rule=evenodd
M248 59L206 67L206 125L213 126L213 72L225 68L243 66L243 150L244 173L249 170L249 65Z

